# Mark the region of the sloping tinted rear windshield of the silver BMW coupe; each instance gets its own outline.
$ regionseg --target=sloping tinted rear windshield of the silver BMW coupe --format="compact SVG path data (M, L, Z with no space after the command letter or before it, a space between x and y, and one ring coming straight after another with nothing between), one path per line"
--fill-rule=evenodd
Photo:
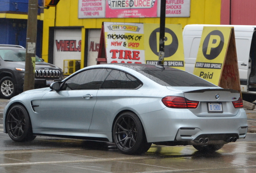
M151 80L167 87L216 87L198 76L182 70L138 70Z

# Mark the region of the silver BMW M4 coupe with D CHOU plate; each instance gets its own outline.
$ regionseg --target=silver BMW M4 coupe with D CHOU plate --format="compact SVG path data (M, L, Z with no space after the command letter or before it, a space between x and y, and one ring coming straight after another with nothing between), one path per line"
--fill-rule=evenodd
M124 154L145 153L152 143L217 151L248 129L238 91L149 64L88 66L13 97L3 121L16 142L37 135L105 141Z

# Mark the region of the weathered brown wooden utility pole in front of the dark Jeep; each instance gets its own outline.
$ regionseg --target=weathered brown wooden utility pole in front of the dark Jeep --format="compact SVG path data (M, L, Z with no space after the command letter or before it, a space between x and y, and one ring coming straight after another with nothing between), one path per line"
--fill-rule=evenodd
M38 0L29 0L27 19L26 62L23 91L35 88L35 48L37 38Z

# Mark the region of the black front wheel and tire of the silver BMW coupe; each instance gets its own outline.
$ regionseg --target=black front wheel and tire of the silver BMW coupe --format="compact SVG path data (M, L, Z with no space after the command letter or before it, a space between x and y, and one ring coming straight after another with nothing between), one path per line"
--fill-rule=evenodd
M6 129L15 142L33 141L31 121L27 110L21 105L14 105L6 116Z

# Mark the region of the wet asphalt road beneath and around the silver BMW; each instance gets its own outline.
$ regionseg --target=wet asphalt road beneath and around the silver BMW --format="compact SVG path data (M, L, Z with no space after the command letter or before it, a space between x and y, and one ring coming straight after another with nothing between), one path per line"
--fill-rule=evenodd
M254 119L250 121L253 128ZM213 153L199 152L192 146L152 145L143 155L124 155L113 143L54 137L16 143L0 125L0 173L185 172L255 173L256 133L248 133L246 139L226 144Z

